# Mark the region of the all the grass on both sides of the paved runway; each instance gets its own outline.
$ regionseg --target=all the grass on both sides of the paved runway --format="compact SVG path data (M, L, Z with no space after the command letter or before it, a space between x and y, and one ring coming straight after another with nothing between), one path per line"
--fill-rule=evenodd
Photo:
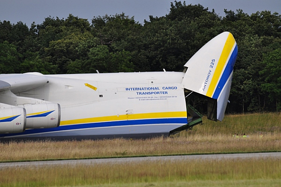
M170 138L10 142L0 161L281 151L281 114L204 119ZM233 137L246 133L247 138ZM263 137L259 137L262 133ZM0 169L0 187L280 187L280 159L195 160Z

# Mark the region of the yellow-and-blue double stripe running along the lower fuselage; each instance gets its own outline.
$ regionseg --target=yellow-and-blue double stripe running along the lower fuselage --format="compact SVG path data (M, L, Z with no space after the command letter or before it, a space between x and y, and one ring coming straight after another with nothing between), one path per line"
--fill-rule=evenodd
M59 131L75 131L92 128L108 128L129 125L187 124L186 112L154 112L125 114L119 116L93 117L77 120L61 121L56 128L28 129L23 133L0 134L0 137L20 137L25 135L52 133Z

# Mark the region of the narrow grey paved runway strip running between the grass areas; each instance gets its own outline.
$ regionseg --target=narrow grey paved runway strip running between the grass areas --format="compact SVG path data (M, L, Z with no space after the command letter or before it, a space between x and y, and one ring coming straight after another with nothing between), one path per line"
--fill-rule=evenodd
M281 158L281 152L9 162L9 163L0 163L0 169L7 168L7 167L30 167L30 166L44 167L44 166L54 166L54 165L74 166L76 164L94 165L94 164L101 164L101 163L124 163L124 162L141 162L141 161L177 161L177 160L190 160L190 159L246 159L246 158L268 158L268 157Z

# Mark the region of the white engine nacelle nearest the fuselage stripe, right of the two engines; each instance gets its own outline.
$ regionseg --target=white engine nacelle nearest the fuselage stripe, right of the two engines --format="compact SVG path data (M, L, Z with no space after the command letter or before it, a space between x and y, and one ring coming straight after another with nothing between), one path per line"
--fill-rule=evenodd
M54 128L60 126L61 108L57 103L24 104L18 107L26 110L26 128Z

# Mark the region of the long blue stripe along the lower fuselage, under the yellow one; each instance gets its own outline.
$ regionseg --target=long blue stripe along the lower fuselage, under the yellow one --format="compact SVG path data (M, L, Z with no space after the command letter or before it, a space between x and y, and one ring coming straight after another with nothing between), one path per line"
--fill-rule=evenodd
M55 131L62 131L62 130L97 128L97 127L114 127L114 126L145 125L145 124L171 124L171 123L177 123L177 124L181 123L182 125L185 125L187 124L187 118L138 119L138 120L126 120L126 121L87 123L87 124L78 124L78 125L64 125L64 126L59 126L56 128L49 128L49 129L29 129L23 133L2 134L0 135L0 137L27 135L27 134L43 133L43 132L55 132Z

